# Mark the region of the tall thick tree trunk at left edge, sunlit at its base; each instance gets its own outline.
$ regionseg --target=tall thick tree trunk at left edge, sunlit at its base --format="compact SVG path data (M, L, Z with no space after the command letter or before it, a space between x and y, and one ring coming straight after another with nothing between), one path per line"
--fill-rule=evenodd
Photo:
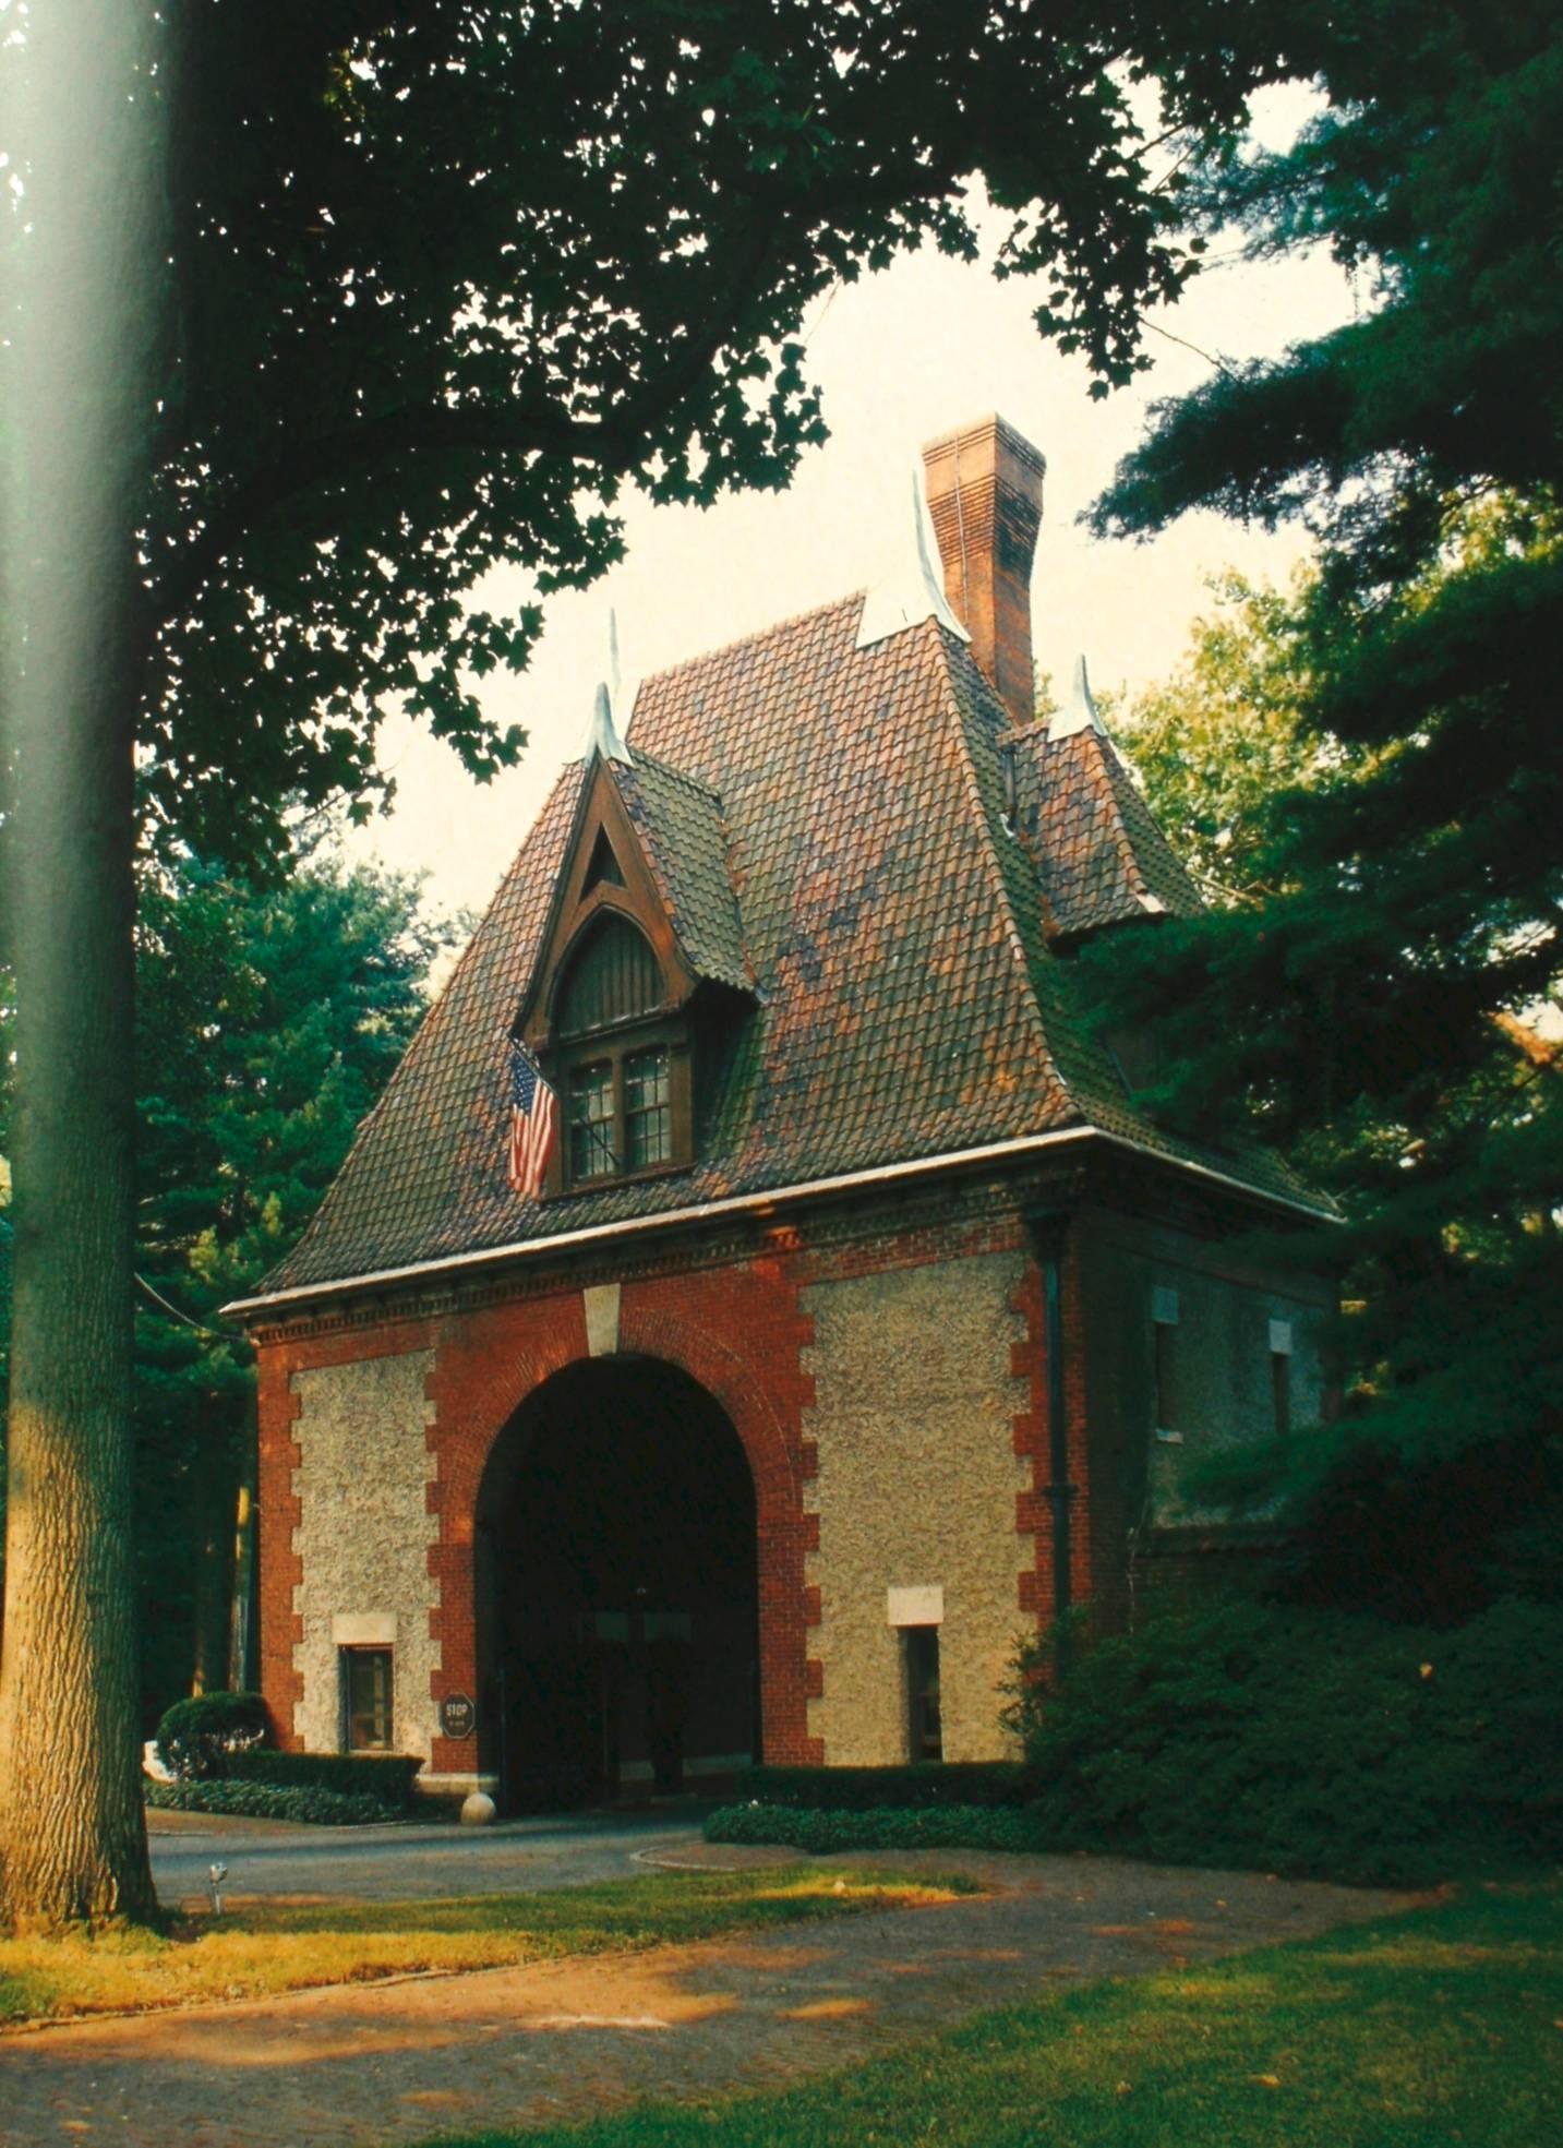
M155 200L146 17L52 0L26 43L11 236L6 829L15 1297L0 1665L0 1912L155 1912L131 1557L135 522ZM133 95L140 88L140 97Z

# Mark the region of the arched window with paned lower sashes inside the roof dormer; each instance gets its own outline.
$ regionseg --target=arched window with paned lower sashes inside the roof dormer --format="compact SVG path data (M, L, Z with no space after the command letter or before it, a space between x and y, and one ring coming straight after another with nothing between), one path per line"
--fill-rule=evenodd
M567 960L552 1057L565 1106L560 1190L689 1162L685 1025L651 941L618 911L599 911Z

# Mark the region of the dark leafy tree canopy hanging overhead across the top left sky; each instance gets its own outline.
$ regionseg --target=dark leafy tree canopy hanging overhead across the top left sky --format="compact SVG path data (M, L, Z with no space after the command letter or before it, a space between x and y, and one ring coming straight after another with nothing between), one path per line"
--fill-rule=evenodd
M1286 69L1269 0L271 0L178 6L163 393L146 500L148 797L217 855L275 801L382 788L376 711L477 775L474 681L620 550L638 485L782 485L822 438L797 324L835 279L975 253L1129 378L1192 251L1181 150ZM1172 140L1146 142L1155 107Z

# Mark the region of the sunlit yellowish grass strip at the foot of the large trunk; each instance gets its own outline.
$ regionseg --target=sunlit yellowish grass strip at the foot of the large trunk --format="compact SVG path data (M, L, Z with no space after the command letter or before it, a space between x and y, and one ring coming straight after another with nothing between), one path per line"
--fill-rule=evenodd
M0 1940L0 2026L346 1985L410 1970L494 1970L554 1955L623 1953L852 1910L945 1901L966 1880L870 1871L655 1873L547 1895L440 1901L236 1901L163 1933Z

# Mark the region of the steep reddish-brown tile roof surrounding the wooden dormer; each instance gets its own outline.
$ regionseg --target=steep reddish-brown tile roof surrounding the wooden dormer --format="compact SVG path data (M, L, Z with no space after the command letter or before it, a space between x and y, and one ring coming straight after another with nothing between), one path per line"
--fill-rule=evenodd
M1091 765L1058 752L1078 739L1022 735L1039 872L1005 823L1016 732L968 649L932 619L857 649L861 608L648 679L612 769L691 967L756 999L704 1048L693 1169L547 1203L505 1179L505 1040L580 812L573 763L262 1295L1069 1126L1301 1196L1271 1158L1157 1132L1071 1007L1061 906L1069 930L1144 917L1140 889L1198 906L1112 748Z

